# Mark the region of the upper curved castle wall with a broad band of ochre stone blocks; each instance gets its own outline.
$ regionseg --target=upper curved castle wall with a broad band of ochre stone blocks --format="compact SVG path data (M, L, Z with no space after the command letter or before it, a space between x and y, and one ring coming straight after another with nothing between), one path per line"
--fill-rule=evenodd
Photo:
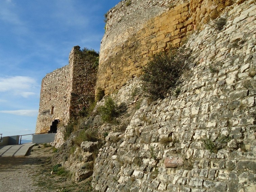
M108 12L101 41L96 87L106 94L139 76L150 56L170 45L180 46L193 29L215 19L230 5L212 0L127 2Z

